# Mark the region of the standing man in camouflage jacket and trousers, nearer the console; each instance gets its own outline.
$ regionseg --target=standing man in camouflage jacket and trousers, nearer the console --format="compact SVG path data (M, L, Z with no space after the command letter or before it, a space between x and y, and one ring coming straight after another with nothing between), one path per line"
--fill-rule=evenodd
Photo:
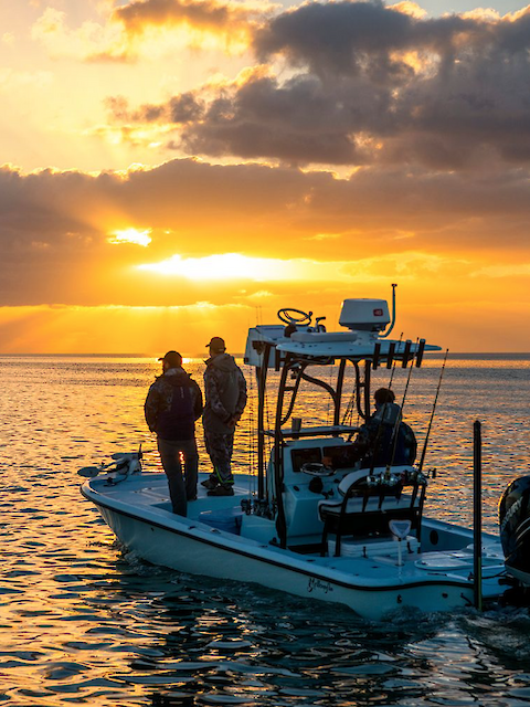
M202 425L213 473L202 485L209 489L209 496L233 496L234 432L246 405L246 381L234 357L225 352L224 339L214 336L208 347Z

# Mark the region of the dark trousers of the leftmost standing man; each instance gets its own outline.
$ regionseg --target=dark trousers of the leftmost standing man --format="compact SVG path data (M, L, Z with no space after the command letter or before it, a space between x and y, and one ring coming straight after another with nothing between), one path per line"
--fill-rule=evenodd
M187 502L197 498L199 454L195 440L161 440L158 437L158 451L163 471L168 477L169 496L173 513L179 516L186 516L188 510Z

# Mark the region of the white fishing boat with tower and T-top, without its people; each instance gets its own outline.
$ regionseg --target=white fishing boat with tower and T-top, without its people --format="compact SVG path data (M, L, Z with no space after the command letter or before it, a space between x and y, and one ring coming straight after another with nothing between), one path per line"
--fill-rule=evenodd
M255 454L246 473L234 468L233 496L209 497L199 484L188 517L174 515L165 474L142 471L141 450L80 469L83 496L148 562L335 602L370 621L402 608L454 611L498 600L507 581L500 537L426 513L432 473L424 462L436 402L418 463L395 456L401 420L384 464L359 458L351 413L361 424L370 419L373 371L385 368L392 381L396 367L409 369L409 384L412 370L441 348L389 338L395 286L392 313L385 299L349 298L341 330L327 331L322 321L286 308L277 323L248 330ZM327 420L294 416L303 383L327 398ZM436 399L438 392L439 383Z

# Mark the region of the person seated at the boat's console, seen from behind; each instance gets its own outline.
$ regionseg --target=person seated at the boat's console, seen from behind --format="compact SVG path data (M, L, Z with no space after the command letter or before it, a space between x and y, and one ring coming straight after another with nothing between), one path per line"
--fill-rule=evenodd
M394 401L395 395L389 388L380 388L374 393L375 412L361 426L354 442L361 468L414 464L416 437L412 429L401 420L401 408Z

